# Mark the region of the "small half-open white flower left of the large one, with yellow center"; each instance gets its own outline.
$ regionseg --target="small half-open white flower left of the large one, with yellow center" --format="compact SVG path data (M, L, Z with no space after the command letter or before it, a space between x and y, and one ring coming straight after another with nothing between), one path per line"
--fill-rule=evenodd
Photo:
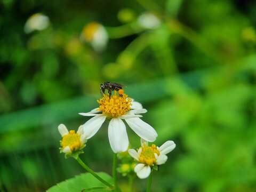
M61 134L60 151L65 154L73 154L85 147L86 135L83 132L83 126L79 126L78 131L68 131L64 124L58 126L58 130Z

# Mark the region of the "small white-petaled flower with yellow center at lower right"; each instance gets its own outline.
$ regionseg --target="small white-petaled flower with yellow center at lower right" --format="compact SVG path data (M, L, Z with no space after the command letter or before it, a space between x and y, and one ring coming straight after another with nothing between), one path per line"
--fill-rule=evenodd
M173 141L166 141L161 147L156 145L148 146L148 142L141 139L141 147L136 151L129 149L128 153L139 162L134 168L134 172L140 179L145 179L151 172L154 165L162 165L167 161L167 153L176 147Z

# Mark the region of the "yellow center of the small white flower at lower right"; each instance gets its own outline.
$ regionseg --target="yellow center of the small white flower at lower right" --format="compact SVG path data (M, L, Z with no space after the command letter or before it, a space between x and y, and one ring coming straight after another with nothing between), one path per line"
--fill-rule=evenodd
M141 163L145 163L149 166L152 166L156 163L156 157L155 157L155 153L157 155L159 155L159 151L156 148L156 145L151 145L150 146L143 146L141 153L140 153L140 157L139 157L139 161Z

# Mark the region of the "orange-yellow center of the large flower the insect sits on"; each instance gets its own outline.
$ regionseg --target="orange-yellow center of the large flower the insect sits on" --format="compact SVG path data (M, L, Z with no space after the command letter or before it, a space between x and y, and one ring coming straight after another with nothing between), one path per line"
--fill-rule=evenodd
M131 109L132 100L128 98L128 95L122 94L122 97L120 95L116 94L116 91L114 95L103 95L103 98L98 100L98 103L100 105L99 110L102 111L103 115L107 115L109 117L119 117L124 115L127 111Z

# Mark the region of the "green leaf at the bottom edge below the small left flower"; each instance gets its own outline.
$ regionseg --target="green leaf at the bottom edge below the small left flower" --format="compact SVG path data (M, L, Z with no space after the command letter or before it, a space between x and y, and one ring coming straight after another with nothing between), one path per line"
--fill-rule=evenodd
M102 179L113 183L113 179L107 173L97 173ZM47 192L81 192L81 191L111 191L107 186L94 178L90 173L83 173L74 178L62 181L51 187Z

